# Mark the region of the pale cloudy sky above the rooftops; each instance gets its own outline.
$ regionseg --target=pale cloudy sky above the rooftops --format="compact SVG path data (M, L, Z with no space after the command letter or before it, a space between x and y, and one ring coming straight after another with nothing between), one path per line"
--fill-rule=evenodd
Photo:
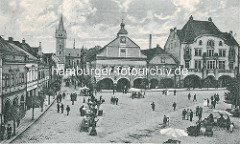
M55 52L55 30L61 14L67 31L67 48L105 46L123 19L128 36L141 49L164 44L170 29L181 29L192 15L209 17L222 32L233 31L240 42L239 0L0 0L0 36L42 43L43 52Z

